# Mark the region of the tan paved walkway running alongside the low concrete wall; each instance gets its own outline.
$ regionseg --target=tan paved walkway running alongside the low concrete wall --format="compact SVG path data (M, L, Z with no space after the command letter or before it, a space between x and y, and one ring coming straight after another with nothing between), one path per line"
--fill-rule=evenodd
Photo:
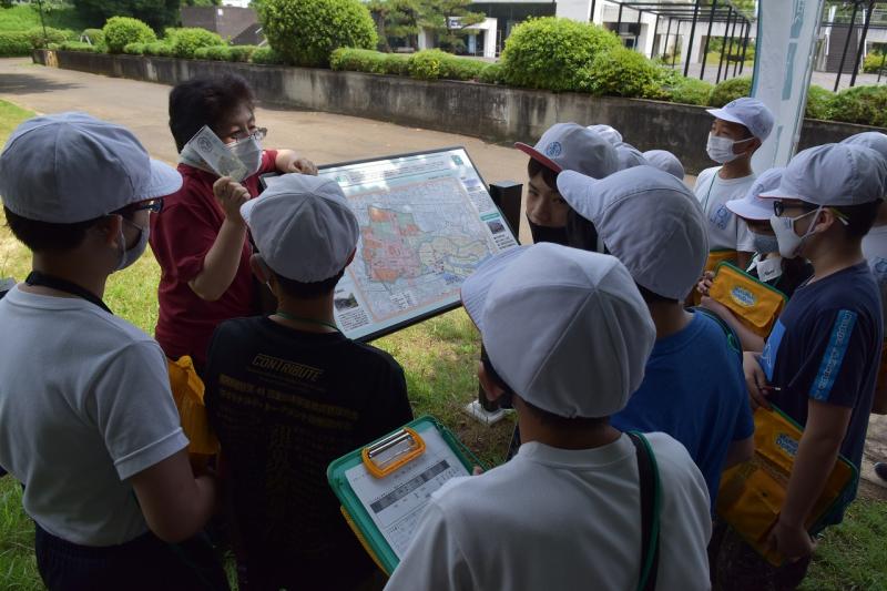
M166 126L169 92L170 86L162 84L0 59L0 99L40 113L79 110L114 121L133 130L152 155L173 163L175 144ZM465 135L276 108L259 108L256 116L269 130L269 146L292 147L318 164L463 145L488 182L523 182L527 171L527 157L517 150ZM520 234L529 243L524 220ZM866 493L887 498L887 488L871 472L871 462L878 459L887 460L887 417L873 417L864 462Z

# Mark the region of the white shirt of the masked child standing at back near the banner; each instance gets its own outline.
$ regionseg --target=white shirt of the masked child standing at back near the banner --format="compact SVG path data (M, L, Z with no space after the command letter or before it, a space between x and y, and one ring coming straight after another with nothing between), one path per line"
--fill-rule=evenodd
M721 166L705 169L693 188L705 214L708 249L753 253L755 243L752 232L741 217L727 210L726 202L743 198L757 175L724 180L717 175L718 172Z

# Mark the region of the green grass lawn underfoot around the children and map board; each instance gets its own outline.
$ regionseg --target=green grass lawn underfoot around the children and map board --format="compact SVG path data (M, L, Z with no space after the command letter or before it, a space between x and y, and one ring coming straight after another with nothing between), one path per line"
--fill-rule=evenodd
M0 101L0 143L30 113ZM0 213L0 277L22 279L30 268L28 252L11 236ZM111 276L105 300L111 309L152 333L157 317L160 269L151 252L130 269ZM475 367L479 337L458 309L385 337L375 345L404 366L416 415L430 414L453 429L482 461L503 460L513 418L492 428L461 412L477 395ZM33 558L33 527L21 509L21 489L0 480L0 589L40 589ZM887 508L879 501L858 501L844 524L833 528L819 544L807 590L887 589Z

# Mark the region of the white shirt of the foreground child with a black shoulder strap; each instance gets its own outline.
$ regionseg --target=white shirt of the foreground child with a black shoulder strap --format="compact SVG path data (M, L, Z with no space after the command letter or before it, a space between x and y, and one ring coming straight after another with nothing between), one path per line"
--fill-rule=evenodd
M659 589L708 589L708 493L686 450L648 436L662 481ZM387 590L625 591L641 570L641 497L630 438L565 450L521 446L508 463L431 499Z

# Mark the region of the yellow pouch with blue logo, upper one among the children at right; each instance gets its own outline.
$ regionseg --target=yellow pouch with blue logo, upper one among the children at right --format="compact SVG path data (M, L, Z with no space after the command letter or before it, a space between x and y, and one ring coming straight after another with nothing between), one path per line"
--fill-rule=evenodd
M715 267L708 296L723 304L754 334L767 338L787 302L785 294L730 263Z

